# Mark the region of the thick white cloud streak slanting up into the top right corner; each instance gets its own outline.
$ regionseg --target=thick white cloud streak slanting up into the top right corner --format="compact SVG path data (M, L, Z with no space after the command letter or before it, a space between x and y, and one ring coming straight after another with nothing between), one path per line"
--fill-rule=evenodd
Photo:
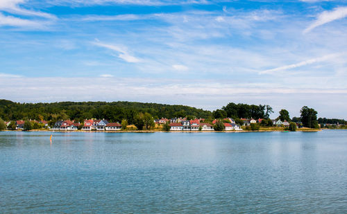
M318 26L327 24L330 21L335 21L337 19L343 19L344 17L347 17L347 7L339 7L339 8L335 8L332 11L324 11L321 14L319 14L316 21L314 21L314 23L308 26L303 31L303 33L308 33Z

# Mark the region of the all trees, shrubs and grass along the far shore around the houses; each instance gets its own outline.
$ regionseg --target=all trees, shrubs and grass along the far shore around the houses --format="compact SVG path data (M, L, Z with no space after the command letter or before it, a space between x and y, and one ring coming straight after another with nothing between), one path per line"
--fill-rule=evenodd
M226 118L232 118L233 122L248 131L290 130L307 127L309 129L347 128L347 122L338 119L319 118L317 112L307 106L301 109L301 116L290 118L286 109L281 109L278 118L271 120L273 109L269 105L248 105L244 103L230 102L213 112L208 110L188 107L185 105L164 105L143 102L53 102L53 103L19 103L10 100L0 100L0 118L10 121L0 130L16 130L16 121L24 122L23 130L42 130L46 121L48 127L53 127L57 121L74 121L78 123L78 130L83 128L83 122L89 118L104 118L111 123L120 123L121 130L170 130L169 123L155 124L159 118L185 118L194 120L203 118L203 123L213 123L216 131L225 129L225 123L230 123ZM247 119L245 119L247 118ZM249 123L251 118L256 123ZM259 118L259 119L258 119ZM282 121L287 125L278 125L274 122ZM202 122L201 122L202 123ZM201 129L199 129L201 130ZM301 129L299 129L301 130Z

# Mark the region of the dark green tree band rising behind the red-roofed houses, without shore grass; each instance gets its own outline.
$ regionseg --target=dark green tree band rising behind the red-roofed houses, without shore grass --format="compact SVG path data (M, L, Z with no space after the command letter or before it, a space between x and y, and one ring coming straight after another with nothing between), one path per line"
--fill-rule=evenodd
M212 122L214 118L234 118L242 125L240 118L264 118L262 125L271 126L269 119L273 113L270 105L248 105L230 102L214 112L197 109L185 105L164 105L144 102L52 102L52 103L19 103L10 100L0 100L0 118L5 121L36 120L50 121L53 125L59 120L74 120L81 122L86 118L104 118L110 122L133 124L139 130L154 127L155 118L186 117L189 119L205 118ZM286 109L281 109L277 119L302 123L304 127L318 127L317 112L305 106L301 109L301 117L289 117ZM320 118L321 119L321 118ZM324 118L321 121L328 121ZM335 120L335 119L333 119ZM343 121L340 121L343 122ZM346 121L344 121L345 123ZM13 125L13 124L12 124ZM35 125L35 124L34 124ZM35 125L37 126L37 125ZM126 125L125 125L126 126ZM36 128L36 127L34 127Z

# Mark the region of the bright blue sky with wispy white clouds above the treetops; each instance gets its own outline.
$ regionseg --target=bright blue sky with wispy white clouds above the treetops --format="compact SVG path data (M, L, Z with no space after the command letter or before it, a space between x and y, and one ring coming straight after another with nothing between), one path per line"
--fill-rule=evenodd
M0 98L347 119L347 1L0 0Z

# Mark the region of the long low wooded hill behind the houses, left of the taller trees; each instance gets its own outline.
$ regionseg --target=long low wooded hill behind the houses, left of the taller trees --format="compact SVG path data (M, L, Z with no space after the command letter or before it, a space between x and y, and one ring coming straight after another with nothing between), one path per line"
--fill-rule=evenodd
M139 112L148 112L154 118L171 118L196 116L212 117L212 112L185 105L166 105L149 102L51 102L51 103L19 103L0 100L0 118L5 121L35 119L56 121L71 119L83 121L85 118L105 118L110 121L128 119Z

